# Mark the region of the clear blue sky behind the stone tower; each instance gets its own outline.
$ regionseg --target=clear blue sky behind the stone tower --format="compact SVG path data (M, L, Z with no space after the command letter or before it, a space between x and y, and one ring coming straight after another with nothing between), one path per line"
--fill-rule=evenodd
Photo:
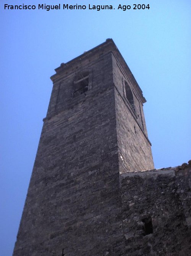
M86 10L4 10L4 4L87 5ZM127 11L118 5L131 5ZM88 5L115 10L88 10ZM133 10L133 4L150 9ZM0 0L0 255L12 254L42 119L60 63L112 38L147 102L155 168L191 159L190 0Z

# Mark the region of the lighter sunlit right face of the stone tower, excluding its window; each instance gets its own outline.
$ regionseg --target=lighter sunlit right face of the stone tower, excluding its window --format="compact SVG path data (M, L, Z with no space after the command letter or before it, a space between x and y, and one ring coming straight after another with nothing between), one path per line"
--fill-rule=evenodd
M121 173L154 168L151 143L147 137L142 101L136 87L130 83L128 74L113 60L113 81L115 84L115 109L117 120L117 140L119 149L119 170ZM129 81L134 94L135 111L124 95L124 81Z

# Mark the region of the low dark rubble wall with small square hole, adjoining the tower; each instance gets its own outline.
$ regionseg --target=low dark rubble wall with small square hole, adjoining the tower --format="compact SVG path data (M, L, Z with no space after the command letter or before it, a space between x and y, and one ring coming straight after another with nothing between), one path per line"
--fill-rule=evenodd
M191 255L191 162L121 174L121 199L125 255Z

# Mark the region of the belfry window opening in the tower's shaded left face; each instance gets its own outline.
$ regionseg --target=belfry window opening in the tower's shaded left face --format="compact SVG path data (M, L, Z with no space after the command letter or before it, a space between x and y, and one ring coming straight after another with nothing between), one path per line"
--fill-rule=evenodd
M77 97L81 94L85 94L88 90L89 84L89 72L81 73L73 85L73 97Z

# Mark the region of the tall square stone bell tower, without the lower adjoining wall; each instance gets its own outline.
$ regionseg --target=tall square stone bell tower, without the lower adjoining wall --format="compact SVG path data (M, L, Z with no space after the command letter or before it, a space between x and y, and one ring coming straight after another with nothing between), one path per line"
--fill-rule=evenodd
M112 39L55 71L13 255L125 255L120 174L154 168L146 100Z

